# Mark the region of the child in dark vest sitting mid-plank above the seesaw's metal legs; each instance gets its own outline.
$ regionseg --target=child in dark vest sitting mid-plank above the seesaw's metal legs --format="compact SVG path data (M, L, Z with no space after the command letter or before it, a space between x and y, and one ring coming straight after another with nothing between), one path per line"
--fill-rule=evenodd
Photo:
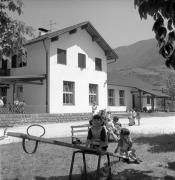
M98 114L94 115L90 124L86 147L106 151L108 148L108 137L101 116Z

